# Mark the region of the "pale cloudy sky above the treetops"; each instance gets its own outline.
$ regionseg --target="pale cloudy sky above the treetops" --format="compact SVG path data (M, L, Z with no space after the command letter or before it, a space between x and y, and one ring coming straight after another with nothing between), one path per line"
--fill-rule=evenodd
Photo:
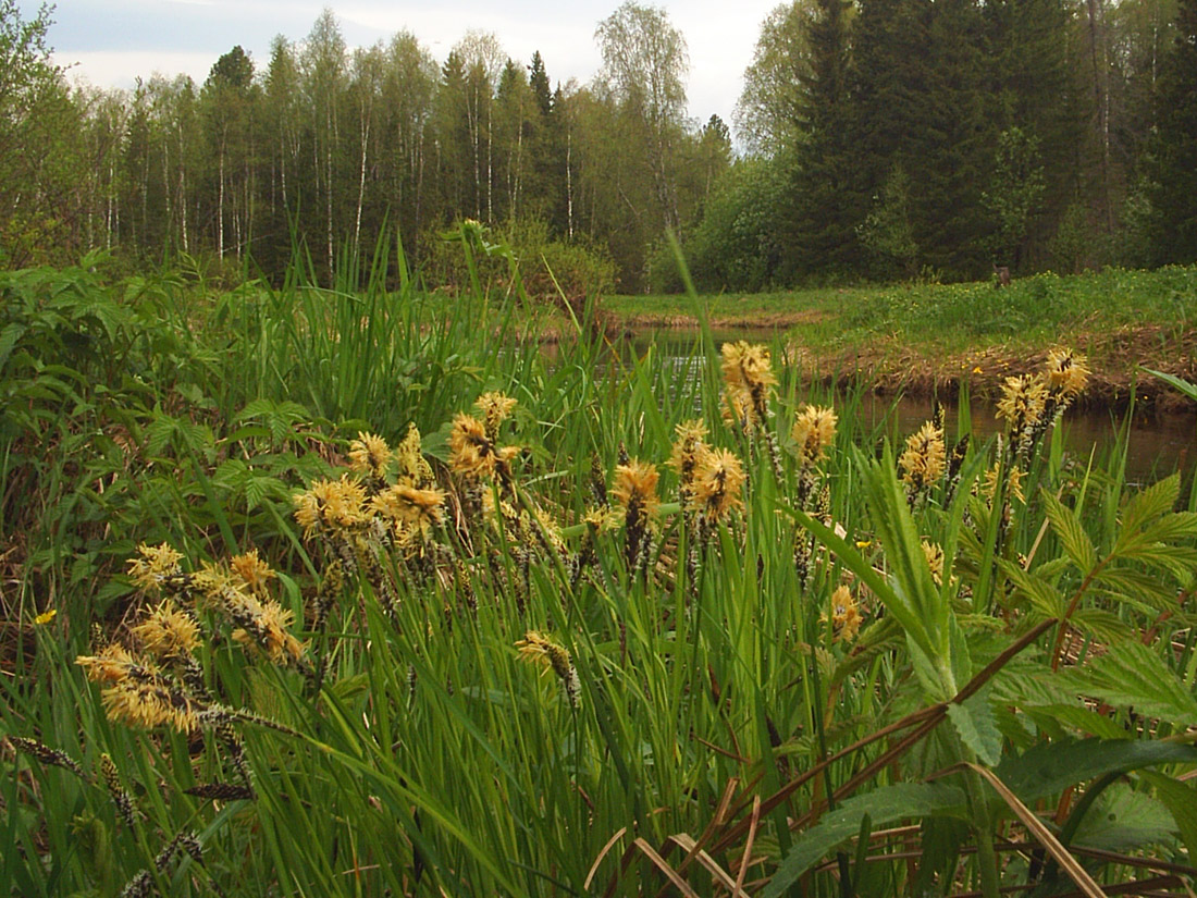
M271 40L302 41L329 6L351 48L408 30L443 61L469 29L491 31L512 59L527 65L540 50L551 81L589 83L602 62L595 26L620 0L57 0L49 43L68 78L129 89L138 77L186 73L207 78L217 59L241 44L255 65L269 61ZM779 0L661 2L686 37L689 115L719 115L730 127L743 71L760 23ZM37 4L20 0L22 16Z

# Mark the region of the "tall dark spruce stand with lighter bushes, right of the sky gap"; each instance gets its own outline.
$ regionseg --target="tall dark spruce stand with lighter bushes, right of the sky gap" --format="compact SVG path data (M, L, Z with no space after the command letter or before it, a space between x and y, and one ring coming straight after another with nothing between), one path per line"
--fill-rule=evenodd
M706 286L1197 260L1197 0L800 0L737 125Z

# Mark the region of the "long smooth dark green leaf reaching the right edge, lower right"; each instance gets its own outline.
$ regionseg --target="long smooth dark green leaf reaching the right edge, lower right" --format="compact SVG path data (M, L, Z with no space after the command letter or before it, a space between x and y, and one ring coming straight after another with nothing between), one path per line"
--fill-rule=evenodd
M1021 801L1032 802L1116 771L1193 763L1197 747L1191 745L1081 739L1040 742L1021 757L1007 756L994 772Z

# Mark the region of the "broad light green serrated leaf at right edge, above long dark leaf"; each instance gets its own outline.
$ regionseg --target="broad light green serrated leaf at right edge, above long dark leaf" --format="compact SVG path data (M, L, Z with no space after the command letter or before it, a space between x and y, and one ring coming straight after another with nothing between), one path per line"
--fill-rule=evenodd
M1092 663L1061 674L1077 692L1144 717L1189 726L1197 721L1197 699L1163 660L1147 645L1123 641Z

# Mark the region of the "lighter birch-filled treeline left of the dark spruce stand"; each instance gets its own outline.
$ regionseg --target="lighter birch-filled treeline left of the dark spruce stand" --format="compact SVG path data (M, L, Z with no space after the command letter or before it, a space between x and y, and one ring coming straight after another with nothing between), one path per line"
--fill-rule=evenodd
M202 85L156 75L132 92L69 89L44 53L47 14L0 10L30 73L23 96L0 91L16 131L0 150L8 265L120 247L249 254L277 274L303 245L328 271L385 227L429 261L437 235L470 218L581 244L636 290L651 247L695 219L731 158L722 122L686 122L681 35L634 4L600 23L606 65L587 86L474 31L443 63L407 32L351 50L326 10L262 65L235 47Z

